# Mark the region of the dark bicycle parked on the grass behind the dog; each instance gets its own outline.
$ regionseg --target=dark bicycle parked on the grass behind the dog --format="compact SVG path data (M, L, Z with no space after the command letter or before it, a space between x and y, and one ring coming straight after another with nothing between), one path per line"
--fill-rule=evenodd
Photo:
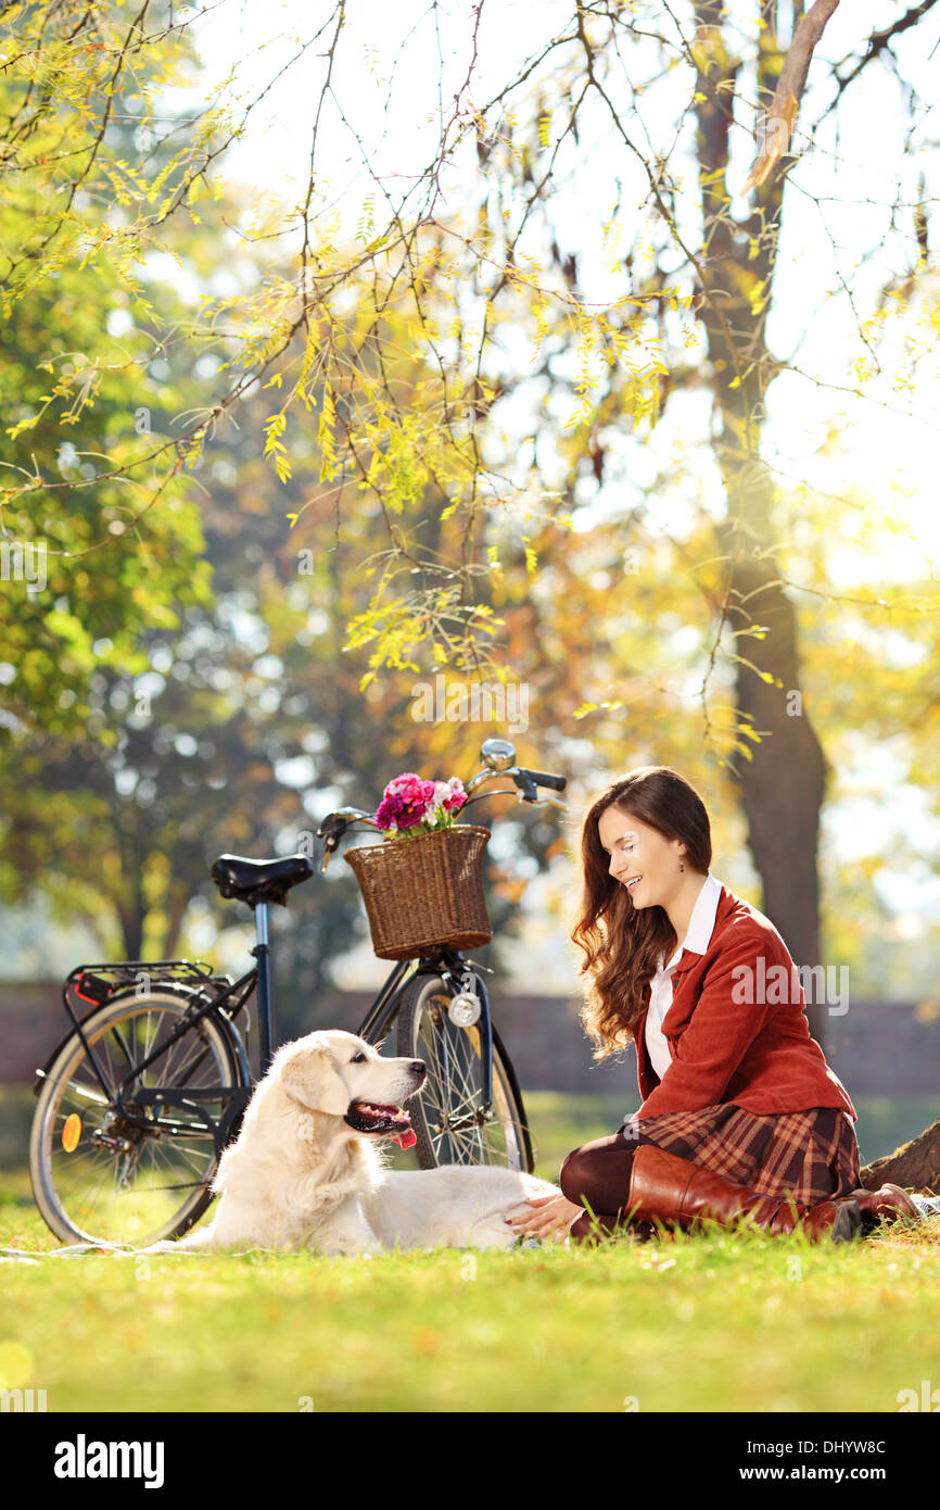
M567 811L555 797L539 797L539 787L563 791L566 778L516 766L508 740L484 740L480 758L462 814L481 797L513 794ZM474 796L496 776L511 779L515 793ZM321 873L359 823L377 827L374 814L361 808L323 818ZM255 994L261 1075L275 1052L269 906L287 906L293 886L312 874L308 855L222 855L213 864L222 895L247 903L255 915L257 963L234 982L202 960L78 965L68 975L62 1000L72 1027L36 1071L29 1145L33 1197L56 1237L146 1247L183 1237L204 1214L222 1152L237 1137L253 1090L235 1019L246 1013L247 1034ZM427 1080L409 1105L421 1169L534 1167L519 1081L492 1021L484 971L453 948L398 960L356 1030L382 1045L395 1027L397 1052L427 1063Z

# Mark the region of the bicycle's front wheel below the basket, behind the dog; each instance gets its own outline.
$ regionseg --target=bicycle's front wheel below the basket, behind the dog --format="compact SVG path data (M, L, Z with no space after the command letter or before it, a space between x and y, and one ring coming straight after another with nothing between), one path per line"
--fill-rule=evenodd
M531 1173L522 1093L499 1034L492 1028L493 1099L484 1111L480 1024L457 1027L448 1016L450 1003L441 977L419 975L398 1009L398 1054L427 1065L427 1080L409 1101L418 1164L501 1164Z

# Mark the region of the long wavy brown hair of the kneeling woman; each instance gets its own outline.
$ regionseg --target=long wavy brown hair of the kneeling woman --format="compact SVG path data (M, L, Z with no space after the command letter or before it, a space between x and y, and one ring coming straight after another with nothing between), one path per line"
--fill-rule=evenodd
M667 840L682 840L687 864L703 876L712 861L705 803L671 766L638 766L588 809L581 830L584 895L570 938L587 956L579 969L588 977L581 1021L596 1045L596 1060L632 1043L656 957L662 953L668 959L679 942L664 908L634 908L626 888L610 874L610 855L597 832L608 808L640 818Z

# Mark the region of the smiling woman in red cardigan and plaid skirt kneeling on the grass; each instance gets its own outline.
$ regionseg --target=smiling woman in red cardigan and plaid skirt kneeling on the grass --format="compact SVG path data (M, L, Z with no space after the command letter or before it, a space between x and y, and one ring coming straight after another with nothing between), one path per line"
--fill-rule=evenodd
M518 1232L597 1241L632 1223L688 1229L748 1216L845 1241L919 1216L896 1185L862 1190L856 1108L810 1037L777 929L717 880L708 812L668 766L614 782L582 829L584 900L572 939L591 980L596 1060L632 1040L643 1105L567 1155L561 1196L530 1200Z

